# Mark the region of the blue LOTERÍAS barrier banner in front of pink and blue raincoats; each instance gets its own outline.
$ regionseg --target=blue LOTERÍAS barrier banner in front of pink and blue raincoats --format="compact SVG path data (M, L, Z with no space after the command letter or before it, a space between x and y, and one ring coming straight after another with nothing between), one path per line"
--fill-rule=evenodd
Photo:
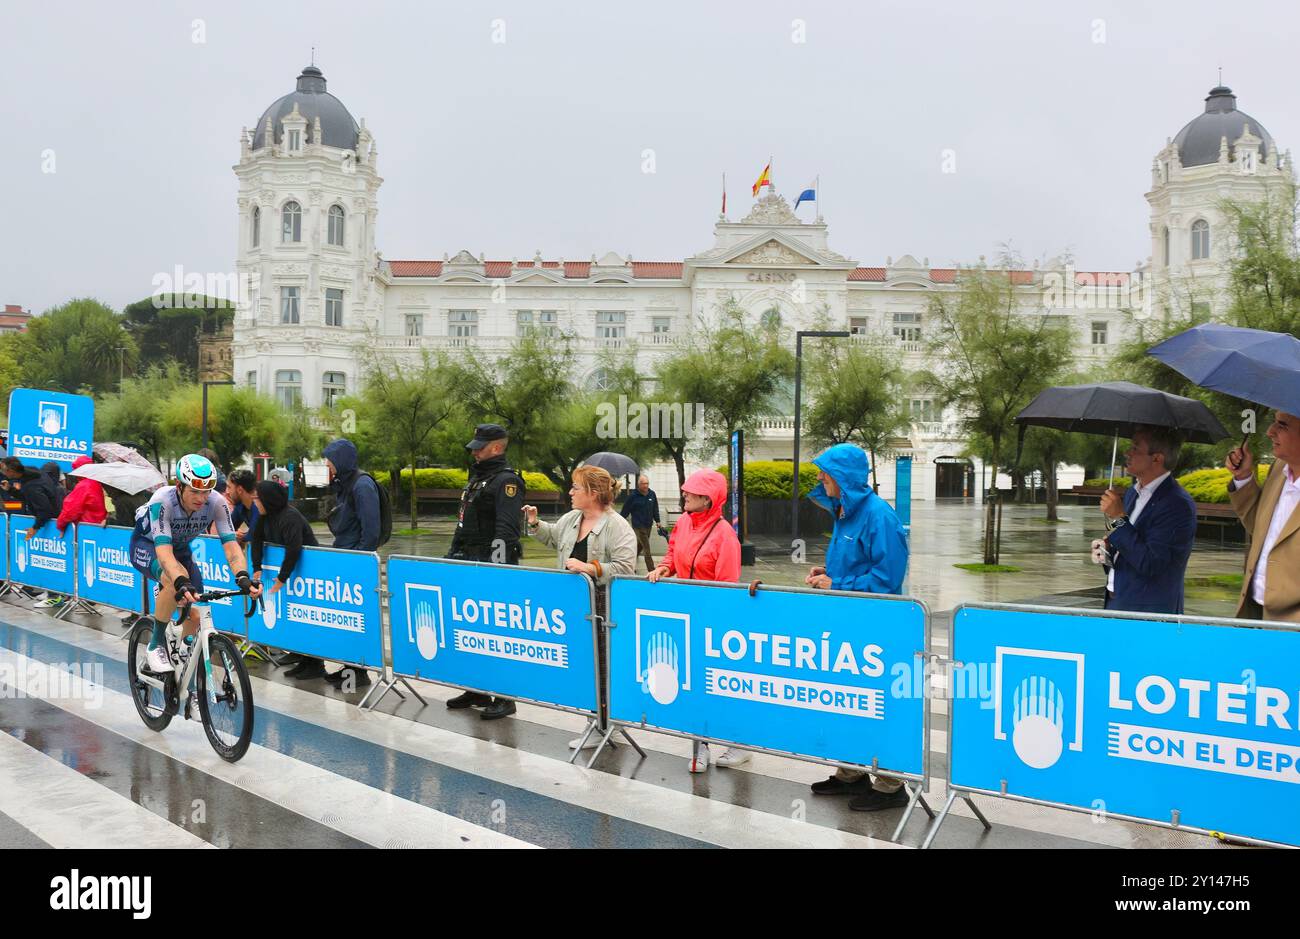
M924 775L915 600L616 577L610 619L612 721Z

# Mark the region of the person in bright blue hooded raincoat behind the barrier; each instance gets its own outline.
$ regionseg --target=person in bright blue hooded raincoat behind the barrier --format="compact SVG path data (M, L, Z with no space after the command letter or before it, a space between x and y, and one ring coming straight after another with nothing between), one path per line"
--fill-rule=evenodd
M831 512L835 529L826 549L826 567L814 567L805 583L822 590L901 593L907 576L907 540L893 506L868 485L871 463L862 447L836 443L812 463L818 485L809 498ZM879 812L907 804L901 779L863 770L838 769L812 783L820 796L853 795L854 812Z

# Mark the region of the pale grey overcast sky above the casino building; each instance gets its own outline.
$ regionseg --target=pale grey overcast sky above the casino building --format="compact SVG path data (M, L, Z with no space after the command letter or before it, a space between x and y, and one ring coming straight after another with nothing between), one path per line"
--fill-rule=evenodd
M942 267L1011 242L1128 271L1149 254L1152 157L1219 65L1239 107L1300 147L1297 9L6 3L0 303L121 308L176 264L231 271L239 129L294 88L312 46L376 135L389 259L680 260L712 243L722 173L734 220L771 155L792 200L820 174L831 246L859 264Z

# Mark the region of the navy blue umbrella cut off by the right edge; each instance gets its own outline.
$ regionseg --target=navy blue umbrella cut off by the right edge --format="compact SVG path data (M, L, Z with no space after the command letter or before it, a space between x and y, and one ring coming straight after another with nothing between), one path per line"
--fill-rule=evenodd
M1300 339L1287 333L1206 323L1147 355L1201 388L1300 415Z

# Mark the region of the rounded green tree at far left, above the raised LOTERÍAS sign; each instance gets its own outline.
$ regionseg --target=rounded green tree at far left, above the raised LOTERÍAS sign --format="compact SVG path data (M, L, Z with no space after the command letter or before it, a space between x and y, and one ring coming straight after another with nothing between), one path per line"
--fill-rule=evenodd
M82 298L34 316L14 337L22 381L30 388L101 394L135 369L135 341L121 317Z

